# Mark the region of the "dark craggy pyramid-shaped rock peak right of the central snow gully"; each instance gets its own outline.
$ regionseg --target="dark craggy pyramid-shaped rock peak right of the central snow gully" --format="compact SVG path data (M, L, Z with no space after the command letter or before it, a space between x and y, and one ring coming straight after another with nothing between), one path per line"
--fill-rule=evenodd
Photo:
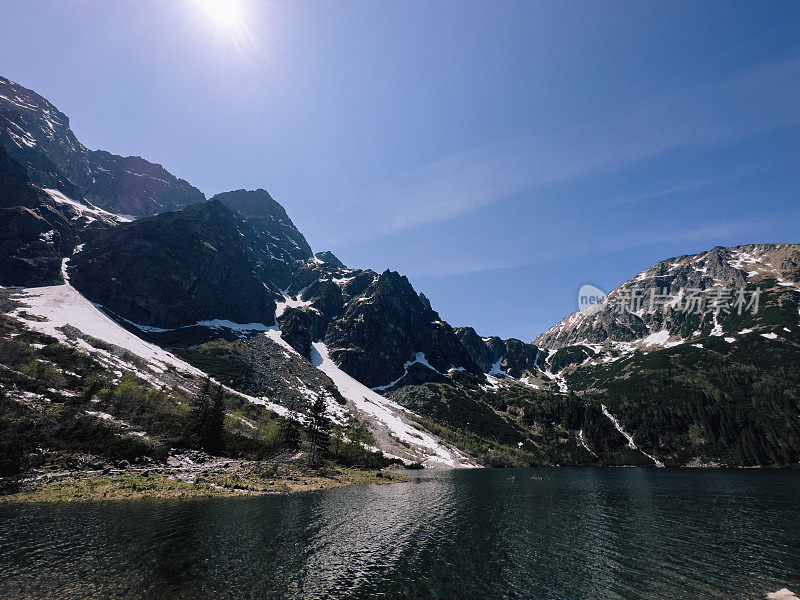
M403 376L404 364L418 352L440 373L458 367L480 372L453 329L392 271L348 302L328 326L325 343L344 371L373 387Z

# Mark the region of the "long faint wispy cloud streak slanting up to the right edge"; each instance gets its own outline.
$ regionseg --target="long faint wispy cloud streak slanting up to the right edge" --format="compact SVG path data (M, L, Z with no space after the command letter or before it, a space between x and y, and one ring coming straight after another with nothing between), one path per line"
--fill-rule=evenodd
M364 241L444 221L514 194L611 172L682 146L714 146L796 125L794 59L644 102L625 114L553 128L449 156L365 194ZM341 243L341 242L340 242Z

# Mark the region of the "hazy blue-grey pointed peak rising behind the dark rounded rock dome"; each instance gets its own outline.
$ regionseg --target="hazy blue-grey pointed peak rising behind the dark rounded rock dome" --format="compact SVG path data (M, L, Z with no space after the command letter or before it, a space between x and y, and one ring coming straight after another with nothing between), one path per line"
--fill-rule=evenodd
M306 238L284 208L265 190L236 190L217 194L217 200L247 220L255 233L254 266L264 281L276 289L288 288L297 263L313 256Z

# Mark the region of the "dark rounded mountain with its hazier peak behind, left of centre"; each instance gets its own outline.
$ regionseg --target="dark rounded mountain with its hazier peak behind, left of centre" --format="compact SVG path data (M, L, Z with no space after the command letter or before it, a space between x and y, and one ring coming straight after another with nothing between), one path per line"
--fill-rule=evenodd
M267 192L238 190L104 231L70 272L86 297L140 325L272 325L279 290L311 256Z

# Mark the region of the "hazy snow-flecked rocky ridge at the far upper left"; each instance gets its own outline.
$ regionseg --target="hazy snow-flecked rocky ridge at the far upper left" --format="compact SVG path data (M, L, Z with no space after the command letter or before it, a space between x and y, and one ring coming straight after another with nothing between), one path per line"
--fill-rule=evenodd
M69 118L36 92L0 77L0 146L43 188L116 214L153 215L205 200L200 190L137 156L91 151Z

